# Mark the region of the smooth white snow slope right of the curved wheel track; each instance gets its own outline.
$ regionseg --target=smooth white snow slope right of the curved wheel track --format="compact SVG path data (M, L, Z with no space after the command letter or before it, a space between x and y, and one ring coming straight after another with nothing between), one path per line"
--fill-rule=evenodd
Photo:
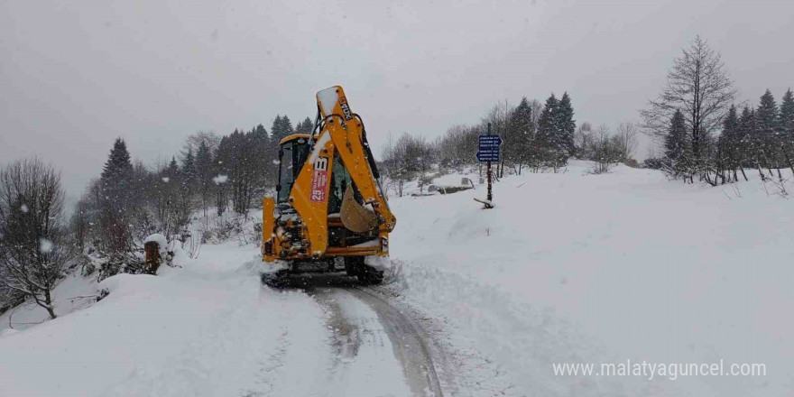
M489 210L473 200L482 185L392 198L400 290L443 319L449 343L493 361L472 376L503 376L508 395L794 392L794 200L768 196L749 171L737 193L588 168L504 178ZM556 377L551 366L626 359L763 363L767 376L649 382Z

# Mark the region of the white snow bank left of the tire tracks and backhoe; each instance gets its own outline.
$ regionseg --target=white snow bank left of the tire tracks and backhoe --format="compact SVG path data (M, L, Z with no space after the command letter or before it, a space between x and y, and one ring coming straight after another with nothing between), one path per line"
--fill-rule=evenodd
M326 313L263 288L243 265L255 254L207 246L182 269L111 277L89 309L0 338L0 395L308 395L330 360Z

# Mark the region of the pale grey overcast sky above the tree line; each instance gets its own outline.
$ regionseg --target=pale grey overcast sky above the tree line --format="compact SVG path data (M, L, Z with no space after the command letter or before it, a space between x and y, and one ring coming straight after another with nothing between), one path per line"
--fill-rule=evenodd
M336 84L376 147L551 92L616 125L698 33L742 99L794 86L790 0L0 0L0 162L39 155L78 195L117 136L170 159L199 130L313 117Z

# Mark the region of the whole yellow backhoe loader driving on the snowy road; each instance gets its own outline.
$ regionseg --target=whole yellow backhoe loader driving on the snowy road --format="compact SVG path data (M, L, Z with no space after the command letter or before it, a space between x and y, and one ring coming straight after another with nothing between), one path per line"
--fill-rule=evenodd
M319 91L317 104L312 133L279 143L276 197L262 200L263 282L278 285L306 263L333 271L338 261L360 282L380 283L383 270L370 259L388 256L396 218L364 121L341 87Z

